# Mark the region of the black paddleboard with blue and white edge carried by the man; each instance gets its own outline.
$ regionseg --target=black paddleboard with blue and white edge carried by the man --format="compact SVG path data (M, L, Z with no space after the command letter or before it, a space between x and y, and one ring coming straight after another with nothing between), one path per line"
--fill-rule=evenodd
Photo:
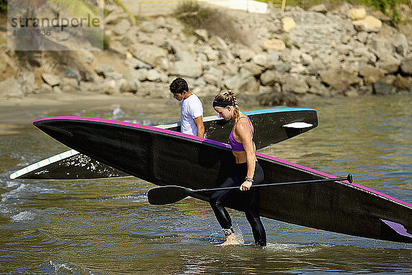
M277 108L246 111L258 133L256 148L287 140L313 129L318 125L317 111L303 108ZM210 140L228 142L232 123L222 120L218 115L203 118L205 137ZM156 126L180 132L180 122ZM11 179L98 179L106 177L128 177L127 173L69 150L40 162L36 162L10 175Z

